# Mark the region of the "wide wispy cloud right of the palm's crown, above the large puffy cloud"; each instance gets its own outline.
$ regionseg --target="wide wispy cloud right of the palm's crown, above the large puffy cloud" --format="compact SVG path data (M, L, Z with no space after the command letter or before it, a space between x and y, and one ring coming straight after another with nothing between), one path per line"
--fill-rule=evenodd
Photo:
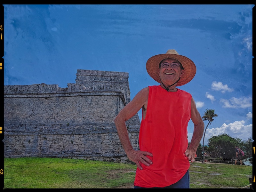
M221 99L224 108L249 108L252 107L252 97L232 97L229 100Z

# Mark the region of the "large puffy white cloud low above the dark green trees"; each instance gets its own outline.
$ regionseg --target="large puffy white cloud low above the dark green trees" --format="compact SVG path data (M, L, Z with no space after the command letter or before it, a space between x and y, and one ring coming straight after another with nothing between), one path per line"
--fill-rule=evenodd
M235 121L230 124L222 124L221 127L207 129L205 133L204 143L208 143L208 139L212 136L218 136L220 134L226 133L230 137L239 138L242 140L247 140L252 138L252 124L245 125L245 121ZM202 139L203 143L203 139Z

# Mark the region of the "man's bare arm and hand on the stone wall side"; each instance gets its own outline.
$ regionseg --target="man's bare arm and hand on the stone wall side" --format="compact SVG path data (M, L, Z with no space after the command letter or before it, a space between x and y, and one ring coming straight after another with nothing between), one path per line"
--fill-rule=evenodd
M142 169L140 162L149 166L152 164L148 156L153 156L148 151L134 150L129 139L125 121L132 118L148 102L149 88L142 89L116 116L115 124L120 142L124 148L127 157L136 163L137 167Z

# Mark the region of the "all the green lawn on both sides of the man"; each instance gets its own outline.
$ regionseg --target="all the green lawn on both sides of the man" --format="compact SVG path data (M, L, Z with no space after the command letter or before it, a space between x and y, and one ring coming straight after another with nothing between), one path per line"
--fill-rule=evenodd
M190 188L243 188L252 166L190 163ZM136 165L64 158L5 158L6 188L133 188ZM250 188L250 187L246 187Z

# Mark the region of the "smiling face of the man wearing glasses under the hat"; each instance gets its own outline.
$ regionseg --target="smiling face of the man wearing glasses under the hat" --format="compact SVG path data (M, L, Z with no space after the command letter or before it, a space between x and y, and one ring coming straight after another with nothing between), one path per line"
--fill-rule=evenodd
M178 81L178 79L185 73L185 70L181 69L180 67L180 62L175 59L164 59L161 61L161 63L169 64L166 68L162 66L158 68L160 79L165 85L173 84L174 82ZM173 68L171 66L173 65L175 67L175 64L179 65L179 67Z

